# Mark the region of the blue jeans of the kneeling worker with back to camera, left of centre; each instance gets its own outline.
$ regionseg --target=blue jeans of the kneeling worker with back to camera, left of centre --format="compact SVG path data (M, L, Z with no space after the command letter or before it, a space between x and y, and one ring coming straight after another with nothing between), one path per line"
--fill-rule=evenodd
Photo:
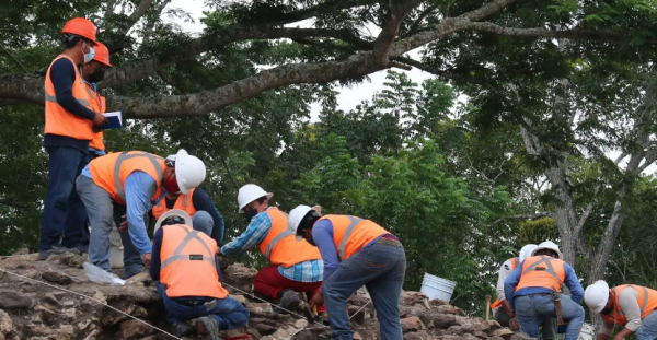
M193 278L192 278L193 280ZM215 298L215 304L209 309L205 304L187 306L180 304L175 298L166 296L166 286L155 282L158 294L164 302L166 320L172 325L209 315L219 324L219 330L234 329L246 326L249 323L249 310L237 300Z

